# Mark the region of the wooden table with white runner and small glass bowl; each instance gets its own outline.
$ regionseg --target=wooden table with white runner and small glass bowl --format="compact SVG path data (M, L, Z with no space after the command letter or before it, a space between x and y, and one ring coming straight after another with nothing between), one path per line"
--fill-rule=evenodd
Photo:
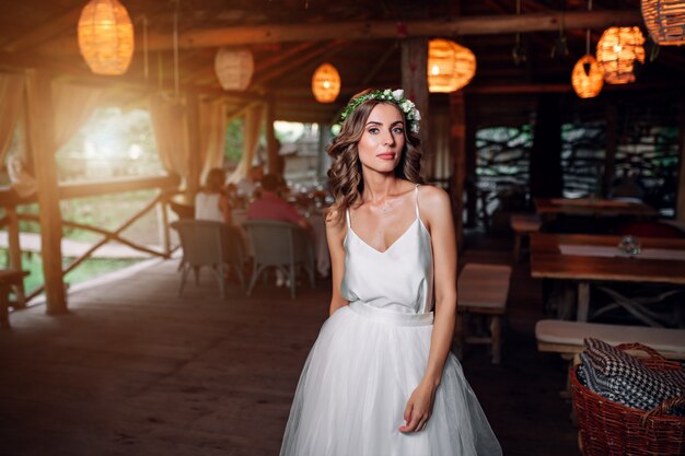
M577 320L587 321L590 307L591 282L662 283L685 287L685 258L659 259L626 256L565 255L560 246L583 246L607 250L620 242L620 236L550 234L531 235L531 276L577 282ZM685 239L640 238L643 254L653 249L675 250L685 256ZM564 247L567 248L567 247ZM618 248L616 248L618 255ZM642 255L642 254L640 254ZM662 326L643 312L638 300L614 295L616 304L624 306L650 326Z

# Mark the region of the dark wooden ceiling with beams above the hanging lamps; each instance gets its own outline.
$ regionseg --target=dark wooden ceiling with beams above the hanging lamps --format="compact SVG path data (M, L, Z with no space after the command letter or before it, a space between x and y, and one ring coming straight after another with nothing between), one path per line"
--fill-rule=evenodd
M400 85L399 44L406 38L448 37L471 48L478 68L466 93L530 94L572 90L570 73L585 52L587 28L593 50L607 26L643 27L639 0L596 0L592 11L587 0L521 0L520 14L513 0L124 0L136 31L133 61L125 75L96 77L77 44L77 23L86 3L25 0L4 5L0 68L46 68L65 78L117 85L131 100L140 91L173 89L177 68L181 90L225 98L229 115L270 100L276 119L318 122L336 120L346 101L364 87ZM521 65L512 58L516 33L527 54ZM552 58L555 44L564 40L568 55L561 49ZM245 92L219 85L213 65L222 46L253 52L255 73ZM333 104L317 103L311 92L312 73L325 61L342 80ZM685 75L685 54L661 48L642 70L630 89L671 85Z

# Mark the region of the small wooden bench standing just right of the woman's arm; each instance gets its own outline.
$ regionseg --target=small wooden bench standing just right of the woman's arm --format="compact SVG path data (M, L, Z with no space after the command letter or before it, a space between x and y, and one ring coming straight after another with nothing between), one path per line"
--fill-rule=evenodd
M492 363L501 360L501 317L507 312L511 267L504 265L467 264L458 278L456 313L456 352L462 355L465 343L490 344ZM481 315L489 319L489 336L471 336L468 317Z

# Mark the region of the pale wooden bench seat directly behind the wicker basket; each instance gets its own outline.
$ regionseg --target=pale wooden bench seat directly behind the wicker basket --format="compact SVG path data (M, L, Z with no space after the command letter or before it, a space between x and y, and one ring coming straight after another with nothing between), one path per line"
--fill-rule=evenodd
M647 326L604 325L587 321L543 319L535 325L539 351L559 353L566 359L583 351L583 339L592 337L612 346L639 342L670 360L685 360L685 330Z

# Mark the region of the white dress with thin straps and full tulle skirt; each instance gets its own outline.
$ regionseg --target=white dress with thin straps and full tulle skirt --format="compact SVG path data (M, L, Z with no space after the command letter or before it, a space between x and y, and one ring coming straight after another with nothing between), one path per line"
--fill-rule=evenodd
M418 196L418 187L417 187ZM433 314L431 239L419 217L385 252L364 243L347 215L342 296L304 364L281 456L475 456L501 447L450 353L421 432L402 433L421 381Z

